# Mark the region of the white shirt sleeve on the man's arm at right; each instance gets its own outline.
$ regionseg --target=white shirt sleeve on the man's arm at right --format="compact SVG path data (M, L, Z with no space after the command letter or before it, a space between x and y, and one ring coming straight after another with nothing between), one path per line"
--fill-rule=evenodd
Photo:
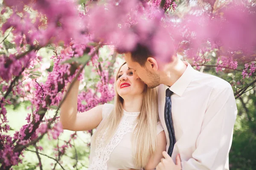
M236 121L236 100L231 87L212 91L204 115L201 133L192 158L182 161L182 170L228 169L233 127ZM225 167L227 166L227 167Z

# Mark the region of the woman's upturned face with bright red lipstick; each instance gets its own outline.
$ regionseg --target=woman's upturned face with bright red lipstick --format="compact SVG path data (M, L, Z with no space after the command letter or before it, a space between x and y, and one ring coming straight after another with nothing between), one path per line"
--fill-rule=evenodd
M127 64L120 68L116 80L116 91L119 96L143 94L145 86L145 83L138 76L133 75L133 70L128 69Z

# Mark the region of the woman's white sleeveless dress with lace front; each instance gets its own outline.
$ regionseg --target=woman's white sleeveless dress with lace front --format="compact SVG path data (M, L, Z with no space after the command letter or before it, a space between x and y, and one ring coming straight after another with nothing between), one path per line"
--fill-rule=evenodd
M111 113L113 107L114 105L107 103L104 105L102 110L103 119ZM139 114L140 112L124 111L119 127L108 144L105 145L102 139L96 138L99 143L95 145L92 140L88 170L128 170L141 168L135 165L131 141L132 132L136 126L134 122ZM158 123L157 134L161 131L163 131L163 127Z

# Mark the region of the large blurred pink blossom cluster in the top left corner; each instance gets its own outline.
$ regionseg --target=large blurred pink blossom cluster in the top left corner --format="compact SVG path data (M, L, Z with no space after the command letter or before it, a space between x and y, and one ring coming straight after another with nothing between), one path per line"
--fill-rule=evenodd
M16 0L5 0L7 6L12 8L13 14L3 24L2 31L13 27L13 33L22 36L26 35L26 42L33 45L35 40L41 46L49 42L64 41L66 44L70 42L70 38L79 40L81 31L84 30L79 20L79 12L76 9L77 4L67 0L22 0L16 3ZM38 16L46 17L45 20L35 18L32 22L28 12L23 10L24 5L31 7L38 12ZM22 12L23 16L17 14ZM76 22L73 22L75 21Z

